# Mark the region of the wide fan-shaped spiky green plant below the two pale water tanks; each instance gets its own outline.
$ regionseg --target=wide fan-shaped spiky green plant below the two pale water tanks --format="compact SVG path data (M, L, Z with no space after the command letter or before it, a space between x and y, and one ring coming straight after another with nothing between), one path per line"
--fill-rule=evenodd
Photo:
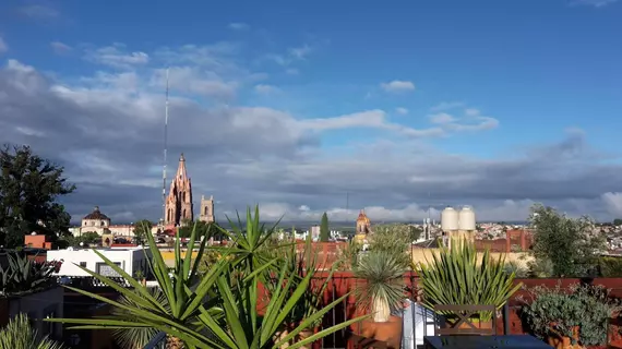
M506 273L505 257L492 258L485 251L481 263L475 245L463 240L453 240L452 248L442 246L432 261L420 263L423 305L435 304L494 305L501 309L521 285L514 286L514 274ZM489 321L493 314L479 313L479 318Z

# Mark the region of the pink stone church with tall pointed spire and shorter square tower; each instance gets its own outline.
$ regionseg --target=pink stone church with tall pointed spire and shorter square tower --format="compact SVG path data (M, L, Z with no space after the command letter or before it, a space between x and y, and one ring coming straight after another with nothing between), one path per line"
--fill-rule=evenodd
M184 221L194 220L194 206L192 203L192 181L186 170L186 157L181 154L177 173L170 183L170 190L166 197L166 217L164 218L165 226L179 227ZM199 219L213 222L214 221L214 197L211 196L205 200L201 197L201 212Z

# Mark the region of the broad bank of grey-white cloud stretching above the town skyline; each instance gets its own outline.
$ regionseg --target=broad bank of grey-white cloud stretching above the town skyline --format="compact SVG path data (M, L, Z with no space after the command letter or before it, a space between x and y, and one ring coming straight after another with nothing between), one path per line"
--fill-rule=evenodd
M373 221L418 220L429 206L438 213L447 204L473 205L480 220L524 219L541 201L602 218L620 210L622 166L602 163L583 133L518 145L498 158L456 156L427 139L491 129L497 119L460 105L445 112L451 119L430 118L416 129L380 109L309 118L316 109L241 106L248 100L236 96L265 75L241 65L235 45L145 53L146 63L120 71L104 64L85 76L43 74L15 60L0 68L0 139L31 144L65 167L79 186L67 201L76 217L94 205L113 219L159 217L163 62L171 67L168 165L175 169L177 155L186 154L194 196L214 194L220 218L250 203L265 204L265 220L285 212L309 221L324 210L351 220L363 207ZM344 136L339 145L326 142L332 130Z

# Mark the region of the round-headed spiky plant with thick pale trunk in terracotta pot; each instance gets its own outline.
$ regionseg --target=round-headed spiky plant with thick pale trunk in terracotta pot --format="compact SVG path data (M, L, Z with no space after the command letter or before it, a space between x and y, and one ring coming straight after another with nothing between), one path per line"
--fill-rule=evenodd
M399 348L402 338L402 318L392 313L404 308L404 272L399 257L383 250L371 250L355 267L355 277L361 280L355 291L358 310L372 315L360 323L359 332L388 348Z

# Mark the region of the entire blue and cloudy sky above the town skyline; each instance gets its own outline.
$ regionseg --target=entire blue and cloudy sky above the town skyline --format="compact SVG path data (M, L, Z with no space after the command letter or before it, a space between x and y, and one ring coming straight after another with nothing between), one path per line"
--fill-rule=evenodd
M0 143L64 167L74 221L157 220L168 68L195 213L610 220L621 33L617 0L4 0Z

